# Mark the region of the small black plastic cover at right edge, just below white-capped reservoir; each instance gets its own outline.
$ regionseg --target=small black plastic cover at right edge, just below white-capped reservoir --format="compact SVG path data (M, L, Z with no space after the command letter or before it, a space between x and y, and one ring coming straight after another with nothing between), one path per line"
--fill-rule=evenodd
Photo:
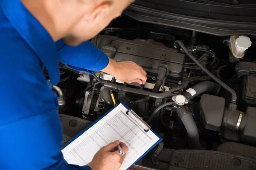
M239 62L237 67L238 76L256 76L256 63L254 62Z

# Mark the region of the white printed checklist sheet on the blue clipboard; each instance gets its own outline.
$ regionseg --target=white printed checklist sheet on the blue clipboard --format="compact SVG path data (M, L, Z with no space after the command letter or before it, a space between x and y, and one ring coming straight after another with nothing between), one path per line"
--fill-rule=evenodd
M146 133L131 116L126 114L126 111L127 109L122 104L118 105L61 150L67 163L79 166L87 165L101 147L119 140L129 148L119 170L128 169L159 138L151 130Z

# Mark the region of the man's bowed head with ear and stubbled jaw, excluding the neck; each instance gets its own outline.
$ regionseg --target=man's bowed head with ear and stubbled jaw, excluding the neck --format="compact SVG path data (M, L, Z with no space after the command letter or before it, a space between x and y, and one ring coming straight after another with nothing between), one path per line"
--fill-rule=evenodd
M122 14L134 0L79 0L81 6L87 6L78 22L63 38L69 45L78 45L90 40L104 29L116 17Z

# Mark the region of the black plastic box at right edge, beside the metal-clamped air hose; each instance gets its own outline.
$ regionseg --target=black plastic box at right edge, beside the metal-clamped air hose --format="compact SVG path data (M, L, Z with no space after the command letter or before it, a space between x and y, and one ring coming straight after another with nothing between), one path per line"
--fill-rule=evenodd
M256 142L256 108L248 107L246 111L247 123L241 132L241 139L254 143Z

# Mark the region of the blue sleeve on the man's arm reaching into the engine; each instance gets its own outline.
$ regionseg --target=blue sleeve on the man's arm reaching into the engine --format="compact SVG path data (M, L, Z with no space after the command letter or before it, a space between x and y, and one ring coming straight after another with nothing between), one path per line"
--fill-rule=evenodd
M90 41L73 47L59 40L56 42L56 48L58 60L77 71L101 71L109 62L108 57Z

